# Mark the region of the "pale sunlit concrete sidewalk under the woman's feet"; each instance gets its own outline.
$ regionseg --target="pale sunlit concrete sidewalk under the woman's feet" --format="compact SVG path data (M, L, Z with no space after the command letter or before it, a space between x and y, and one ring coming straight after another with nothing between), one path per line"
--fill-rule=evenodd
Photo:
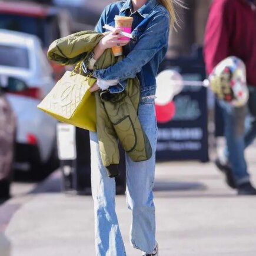
M256 184L256 147L247 151ZM49 179L59 187L60 174ZM58 189L57 189L58 191ZM90 196L45 192L22 198L6 227L12 256L85 256L94 252L94 214ZM17 198L7 202L17 205ZM160 256L255 256L256 198L237 197L211 163L158 163L155 182ZM141 252L129 245L131 213L117 196L117 213L128 256Z

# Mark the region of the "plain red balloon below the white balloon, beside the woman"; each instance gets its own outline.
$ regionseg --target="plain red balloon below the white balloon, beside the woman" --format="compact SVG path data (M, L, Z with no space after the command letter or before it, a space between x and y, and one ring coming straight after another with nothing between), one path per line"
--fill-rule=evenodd
M169 122L174 117L176 107L174 101L166 105L155 104L155 112L157 114L157 122Z

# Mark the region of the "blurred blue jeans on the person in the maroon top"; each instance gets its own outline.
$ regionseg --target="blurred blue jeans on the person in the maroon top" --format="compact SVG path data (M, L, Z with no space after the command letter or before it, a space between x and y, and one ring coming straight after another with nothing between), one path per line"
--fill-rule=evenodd
M244 149L256 137L256 87L248 88L250 97L248 104L244 107L235 108L225 101L219 101L224 117L224 136L227 141L224 154L238 185L250 181Z

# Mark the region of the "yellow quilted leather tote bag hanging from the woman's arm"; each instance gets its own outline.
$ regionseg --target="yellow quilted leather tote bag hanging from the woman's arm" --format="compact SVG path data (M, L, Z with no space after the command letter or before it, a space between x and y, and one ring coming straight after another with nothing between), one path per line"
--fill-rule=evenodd
M66 71L37 107L61 122L96 131L95 97L89 91L95 81Z

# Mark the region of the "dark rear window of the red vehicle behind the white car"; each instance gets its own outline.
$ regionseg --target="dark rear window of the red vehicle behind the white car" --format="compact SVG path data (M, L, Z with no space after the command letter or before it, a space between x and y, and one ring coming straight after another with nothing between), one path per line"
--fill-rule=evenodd
M0 28L38 36L44 47L48 46L45 34L45 20L17 14L0 14Z

